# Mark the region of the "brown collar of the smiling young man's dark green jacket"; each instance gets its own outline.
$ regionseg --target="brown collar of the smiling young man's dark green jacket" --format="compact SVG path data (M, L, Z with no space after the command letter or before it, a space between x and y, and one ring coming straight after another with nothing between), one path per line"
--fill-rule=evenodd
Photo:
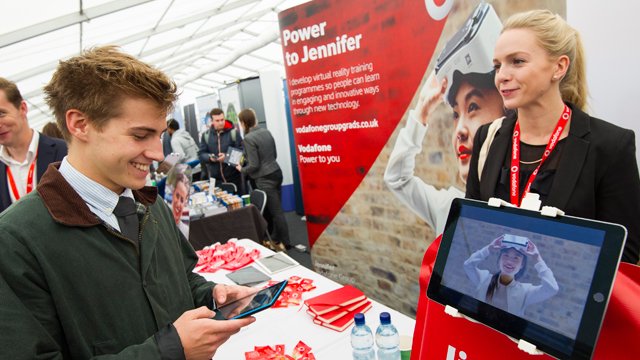
M36 187L51 217L68 226L88 227L101 224L101 220L89 210L80 195L60 174L59 167L60 162L49 165ZM132 191L136 201L144 206L152 205L158 196L157 188L150 186Z

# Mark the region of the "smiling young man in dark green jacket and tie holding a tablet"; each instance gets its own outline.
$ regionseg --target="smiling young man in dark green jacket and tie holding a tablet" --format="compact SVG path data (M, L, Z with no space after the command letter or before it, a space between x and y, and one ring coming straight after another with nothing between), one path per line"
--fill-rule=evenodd
M175 84L109 46L60 62L45 94L69 155L0 215L3 356L211 358L255 319L211 319L214 298L248 288L195 274L171 210L144 186Z

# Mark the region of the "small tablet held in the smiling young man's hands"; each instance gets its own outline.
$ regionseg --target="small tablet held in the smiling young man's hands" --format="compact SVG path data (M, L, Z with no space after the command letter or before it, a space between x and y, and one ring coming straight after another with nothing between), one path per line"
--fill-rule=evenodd
M262 290L255 289L255 292L247 297L235 300L214 309L216 312L214 319L241 319L265 310L271 307L276 300L278 300L278 297L285 286L287 286L287 280Z

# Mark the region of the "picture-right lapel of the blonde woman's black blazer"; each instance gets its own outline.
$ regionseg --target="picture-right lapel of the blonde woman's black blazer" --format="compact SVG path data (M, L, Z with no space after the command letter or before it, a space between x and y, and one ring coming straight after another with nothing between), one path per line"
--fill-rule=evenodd
M589 151L589 141L584 138L591 131L589 116L580 110L572 110L569 135L565 139L558 170L547 197L547 204L560 210L564 210L569 202L571 192L578 183Z

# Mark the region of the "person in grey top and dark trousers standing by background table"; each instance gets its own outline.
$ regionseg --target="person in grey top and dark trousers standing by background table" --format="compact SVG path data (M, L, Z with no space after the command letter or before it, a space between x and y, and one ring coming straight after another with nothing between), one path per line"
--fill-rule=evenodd
M238 171L249 176L255 188L267 194L265 219L273 229L270 247L278 251L291 248L289 227L282 210L282 170L276 162L276 143L269 130L257 125L253 109L244 109L238 114L244 131L246 164L237 165Z

